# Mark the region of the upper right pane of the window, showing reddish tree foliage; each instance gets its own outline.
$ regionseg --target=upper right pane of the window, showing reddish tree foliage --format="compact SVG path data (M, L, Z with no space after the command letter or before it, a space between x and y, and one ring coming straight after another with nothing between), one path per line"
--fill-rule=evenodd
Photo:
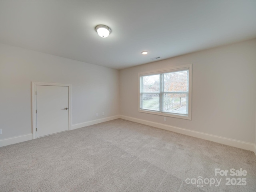
M164 92L187 91L188 70L164 74Z

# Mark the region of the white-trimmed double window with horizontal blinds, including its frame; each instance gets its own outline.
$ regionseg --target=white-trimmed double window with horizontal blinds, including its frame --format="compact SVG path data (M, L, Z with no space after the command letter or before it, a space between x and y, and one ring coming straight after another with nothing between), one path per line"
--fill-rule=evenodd
M191 120L192 64L139 73L139 112Z

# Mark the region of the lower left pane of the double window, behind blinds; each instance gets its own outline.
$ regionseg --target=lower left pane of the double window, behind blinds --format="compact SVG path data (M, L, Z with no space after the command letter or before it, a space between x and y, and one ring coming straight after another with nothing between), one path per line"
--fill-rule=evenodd
M159 95L160 94L142 93L140 95L140 108L159 111Z

